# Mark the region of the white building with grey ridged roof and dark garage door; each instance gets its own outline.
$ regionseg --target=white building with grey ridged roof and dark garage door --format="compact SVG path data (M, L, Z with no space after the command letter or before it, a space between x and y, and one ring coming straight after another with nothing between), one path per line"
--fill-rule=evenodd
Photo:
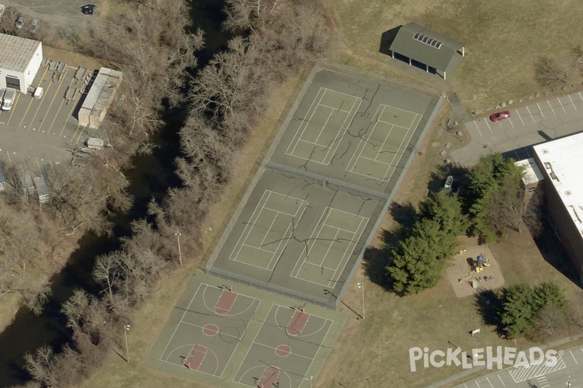
M41 42L0 34L0 88L13 88L26 93L41 62Z

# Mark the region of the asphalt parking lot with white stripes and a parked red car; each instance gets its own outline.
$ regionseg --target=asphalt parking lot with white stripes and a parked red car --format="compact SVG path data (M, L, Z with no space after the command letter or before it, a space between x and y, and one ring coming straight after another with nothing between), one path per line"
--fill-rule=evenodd
M583 130L583 92L574 92L520 106L510 111L510 118L491 122L489 117L465 123L471 137L469 145L451 151L452 159L471 166L480 155L508 152L520 159L528 152L509 152L543 143Z

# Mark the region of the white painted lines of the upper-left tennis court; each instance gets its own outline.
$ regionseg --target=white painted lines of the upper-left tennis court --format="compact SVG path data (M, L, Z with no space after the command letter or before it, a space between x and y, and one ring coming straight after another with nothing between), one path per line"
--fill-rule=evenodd
M324 93L322 93L322 95L320 96L320 98L318 100L318 103L314 107L314 103L318 99L318 95L321 93L322 90L324 90ZM333 108L332 106L325 105L325 104L321 104L322 98L324 98L324 95L328 91L334 92L334 93L337 93L337 94L343 94L343 95L345 95L347 97L350 97L350 98L354 98L354 101L352 103L352 107L350 108L350 111L343 111L342 109ZM360 101L360 103L357 106L356 110L354 110L354 105L356 105L356 102L357 101ZM339 92L339 91L332 90L332 89L328 89L328 88L322 88L322 87L319 88L318 93L314 97L314 101L312 101L312 104L310 105L310 109L308 109L308 112L306 113L306 117L303 119L303 122L298 127L296 133L294 134L294 137L292 138L289 146L286 149L286 155L296 156L296 158L300 158L300 159L304 159L304 160L309 160L309 161L316 162L316 163L320 163L320 164L323 164L323 165L329 165L330 160L328 159L328 156L329 156L330 152L332 151L332 148L334 149L334 152L336 152L336 149L338 149L338 147L339 147L339 139L342 138L342 136L344 135L344 134L342 134L342 136L339 136L340 132L342 132L342 130L344 130L344 132L346 133L347 127L350 126L350 123L354 119L354 116L356 115L356 112L360 108L360 105L361 104L362 104L362 98L360 98L360 97L356 97L356 96L353 96L353 95L350 95L350 94L346 94L346 93ZM325 108L332 109L332 111L328 115L328 118L326 119L326 122L324 123L324 126L322 126L322 129L320 130L320 132L318 134L318 137L316 138L315 143L313 143L311 141L303 140L302 137L303 137L303 135L305 133L305 129L308 126L308 123L311 122L312 117L314 116L315 112L318 110L318 106L324 106ZM313 108L313 111L312 111L312 108ZM312 113L310 115L310 118L307 119L307 115L310 113L310 111L312 111ZM336 147L333 147L331 144L328 144L328 145L326 145L326 144L319 144L318 143L318 139L322 135L322 132L324 132L324 130L326 129L326 124L328 123L328 120L331 118L332 113L334 113L334 111L339 111L339 112L347 113L346 118L343 120L342 125L338 129L338 131L336 133L336 136L335 136L335 138L334 138L334 140L332 142L332 143L336 143ZM353 111L354 111L354 113L352 113ZM350 113L352 113L352 116L350 115ZM303 129L302 129L302 126L303 126ZM301 129L301 133L300 133L300 129ZM299 134L299 136L298 136L298 134ZM326 155L324 156L324 160L322 162L319 162L319 161L316 161L314 159L308 159L308 158L304 158L302 156L295 155L294 152L296 151L296 147L300 143L300 141L303 141L304 143L308 143L308 144L315 144L315 145L318 145L319 147L328 148L328 152L326 152ZM291 149L291 151L290 151L290 148L291 148L292 145L293 145L293 149ZM328 160L328 162L326 162L326 160Z

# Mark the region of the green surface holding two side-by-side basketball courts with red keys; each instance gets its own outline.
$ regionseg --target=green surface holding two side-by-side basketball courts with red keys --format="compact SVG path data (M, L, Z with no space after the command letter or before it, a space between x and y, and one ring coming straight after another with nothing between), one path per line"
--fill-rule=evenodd
M307 376L317 379L346 317L296 304L243 284L195 275L146 365L228 388L259 383L308 388Z

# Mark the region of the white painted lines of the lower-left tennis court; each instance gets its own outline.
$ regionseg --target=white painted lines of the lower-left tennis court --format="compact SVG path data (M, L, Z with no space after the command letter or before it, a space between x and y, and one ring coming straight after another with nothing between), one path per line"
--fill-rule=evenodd
M267 198L264 201L265 194L267 194L268 196L267 196ZM274 209L265 207L265 204L267 204L268 201L269 201L269 198L271 198L271 194L282 195L286 199L291 198L292 200L300 201L300 204L298 205L298 208L296 209L296 213L295 214L289 214L289 213L285 213L285 212L281 212L281 211L278 211L278 210L274 210ZM283 243L284 240L286 241L286 245L287 245L288 240L286 239L285 236L287 236L287 234L289 233L289 230L290 230L290 227L291 227L291 222L290 222L290 225L287 226L286 232L283 234L282 239L279 240L279 244L276 247L275 251L273 251L273 252L270 251L270 250L266 250L265 248L262 248L262 245L264 245L265 239L267 238L267 234L269 233L269 231L271 231L271 226L273 226L273 223L278 218L278 216L279 216L280 213L281 214L285 214L285 215L290 216L290 217L293 217L293 218L296 218L298 211L300 211L300 209L303 208L304 210L301 213L301 216L303 216L304 215L304 212L305 212L305 209L307 208L307 204L308 204L307 201L300 200L300 198L290 197L289 195L284 195L284 194L276 193L275 191L271 191L271 190L265 190L264 193L263 193L263 195L261 196L261 199L259 200L257 206L255 206L255 209L254 209L253 213L251 214L251 218L249 219L249 222L247 223L247 225L245 225L245 228L243 229L243 233L241 233L241 236L239 236L239 239L237 240L237 243L235 244L235 248L233 249L233 251L231 251L231 254L229 255L229 259L230 260L233 260L233 261L237 261L237 262L243 263L243 264L247 264L247 265L250 265L250 266L254 266L255 268L261 268L261 269L265 269L265 270L273 270L273 268L270 269L270 267L271 267L271 264L273 262L273 259L275 258L275 254L279 251L279 248L281 247L281 245L282 245L282 243ZM259 208L259 205L261 205L261 208ZM259 245L259 247L255 247L255 245L247 244L247 239L251 235L252 230L253 230L253 227L255 226L255 223L257 222L257 220L261 216L261 212L264 209L268 209L269 211L276 212L276 215L275 215L275 217L272 220L272 223L271 223L271 226L268 229L268 232L265 233L265 236L264 236L263 240L261 241L261 244ZM257 216L255 216L255 214L257 214ZM300 216L300 219L301 219L301 216ZM245 236L245 239L243 240L243 242L241 242L241 239L243 239L243 236ZM238 250L237 250L237 247L239 247ZM258 266L258 265L255 265L255 264L248 263L246 261L238 260L237 258L239 256L239 254L241 253L241 250L243 249L243 247L250 247L250 248L257 249L259 251L264 251L264 252L271 253L272 256L271 256L271 259L269 259L269 262L268 262L267 266L266 267L262 267L262 266ZM235 254L235 251L237 251L236 254ZM234 258L233 258L233 254L235 255Z

